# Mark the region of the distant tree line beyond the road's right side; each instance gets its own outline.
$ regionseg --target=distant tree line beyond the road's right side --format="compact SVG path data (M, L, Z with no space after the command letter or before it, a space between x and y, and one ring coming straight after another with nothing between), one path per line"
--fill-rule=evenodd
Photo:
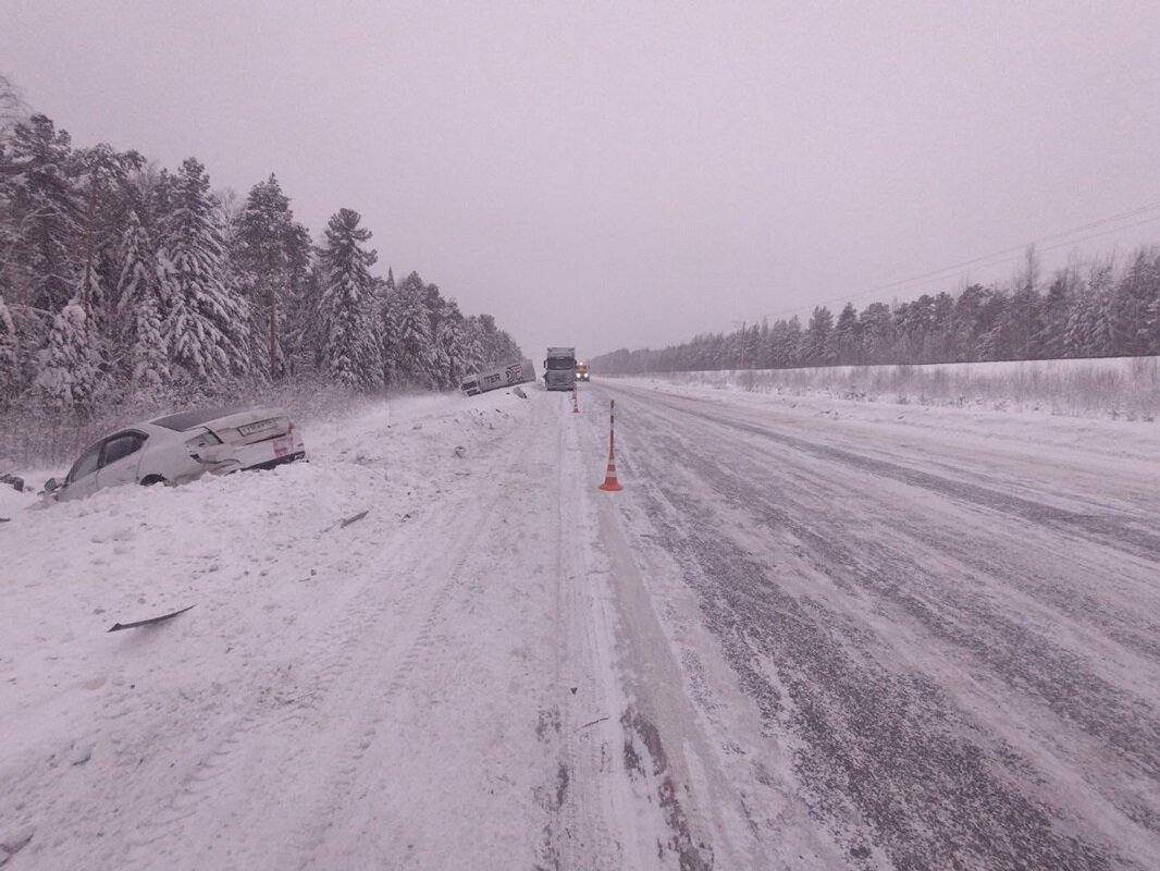
M1044 286L1029 249L1009 283L958 294L847 303L835 318L818 305L809 321L763 319L730 333L702 333L664 348L621 348L593 358L607 374L789 369L818 366L980 362L1160 354L1160 251L1123 265L1071 265Z

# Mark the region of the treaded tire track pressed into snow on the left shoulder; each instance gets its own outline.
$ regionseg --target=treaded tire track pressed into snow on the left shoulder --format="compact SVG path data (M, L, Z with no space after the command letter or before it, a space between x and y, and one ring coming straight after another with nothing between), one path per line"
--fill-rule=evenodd
M514 462L509 455L495 454L490 462L481 465L481 474L507 468ZM256 830L273 828L280 832L284 827L284 819L270 819L269 799L283 792L292 793L302 786L296 779L297 772L317 764L313 758L317 747L311 743L311 736L333 730L331 720L335 706L357 707L355 697L362 688L350 686L353 677L376 674L380 662L397 662L399 672L390 682L389 693L398 692L419 655L418 647L435 625L441 599L455 577L452 574L445 583L436 586L425 585L422 581L438 575L440 564L447 562L442 544L462 538L462 514L474 516L477 511L478 506L470 496L457 499L455 508L440 516L440 521L422 528L421 534L430 541L429 547L411 548L401 564L376 573L361 583L356 578L354 583L339 588L338 604L334 602L334 588L328 588L329 604L338 607L338 618L313 636L306 654L298 660L297 674L285 682L289 700L271 704L266 693L255 691L242 694L245 704L238 710L235 701L239 693L231 693L230 700L234 703L232 712L225 715L219 713L203 726L217 734L196 757L175 768L181 773L168 796L162 793L158 808L126 833L125 868L155 868L159 862L168 868L201 868L206 862L215 862L210 857L219 856L223 850L234 851L233 862L238 866L261 864L268 858L269 843L255 845L253 832L239 832L238 845L230 847L229 830L253 826ZM384 533L387 535L385 540L379 538ZM387 525L385 520L372 518L353 525L349 531L328 527L320 533L319 540L324 540L322 535L345 537L347 550L358 550L357 542L374 542L374 547L390 553L392 541L407 540L411 534L409 530L400 530L393 521ZM466 553L470 545L467 542L455 553ZM335 544L334 547L343 545ZM401 585L398 583L400 578ZM391 633L382 631L384 625L387 628L404 625L406 628ZM252 688L268 686L277 683L278 674L275 670L267 676L247 675L247 682ZM124 692L121 698L130 700ZM362 733L353 737L348 735L349 743L356 746L353 758L357 760L374 739L379 722L372 720L364 725ZM354 729L348 727L343 734ZM277 750L285 747L295 748L289 756L270 756L270 748ZM245 772L244 778L238 776L241 771ZM341 766L340 775L349 777L351 773L349 764ZM222 783L227 789L220 789ZM309 801L307 798L303 800ZM298 813L293 807L284 809L290 818ZM213 829L220 829L215 833L213 840L225 842L225 847L215 849L209 838ZM299 832L296 837L300 835ZM247 858L247 851L256 856Z

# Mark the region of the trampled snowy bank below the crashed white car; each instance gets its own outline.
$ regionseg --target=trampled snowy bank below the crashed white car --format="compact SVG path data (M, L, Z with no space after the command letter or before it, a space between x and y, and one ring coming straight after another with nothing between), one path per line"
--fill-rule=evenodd
M189 848L173 827L203 790L218 801L197 820L210 829L248 812L229 800L235 778L203 784L239 743L311 780L311 760L288 746L295 730L267 725L282 711L314 715L328 676L363 649L371 604L399 614L387 634L415 631L403 621L427 591L421 566L406 567L441 548L420 532L436 508L486 498L477 458L502 456L530 404L509 393L415 397L305 420L310 462L181 488L123 487L43 510L0 490L10 518L0 524L0 865L15 854L21 869L155 866L150 856ZM23 474L37 487L48 476ZM387 662L367 655L372 679ZM357 701L342 697L319 722L340 733ZM259 726L268 732L242 739ZM456 823L433 813L433 825ZM273 849L261 834L249 848ZM212 830L202 836L212 850ZM212 857L202 866L258 866Z

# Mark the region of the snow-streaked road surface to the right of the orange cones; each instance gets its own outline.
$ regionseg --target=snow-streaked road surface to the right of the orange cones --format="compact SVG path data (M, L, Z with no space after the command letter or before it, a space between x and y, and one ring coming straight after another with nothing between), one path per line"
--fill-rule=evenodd
M759 841L802 800L854 868L1160 868L1150 429L614 395L626 528Z

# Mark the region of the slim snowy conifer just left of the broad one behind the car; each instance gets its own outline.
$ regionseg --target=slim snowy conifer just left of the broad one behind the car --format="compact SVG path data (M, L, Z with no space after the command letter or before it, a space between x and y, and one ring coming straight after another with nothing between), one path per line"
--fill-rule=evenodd
M157 257L136 211L129 213L122 244L117 298L118 336L128 352L122 369L135 387L157 394L171 380L162 334L165 309Z

